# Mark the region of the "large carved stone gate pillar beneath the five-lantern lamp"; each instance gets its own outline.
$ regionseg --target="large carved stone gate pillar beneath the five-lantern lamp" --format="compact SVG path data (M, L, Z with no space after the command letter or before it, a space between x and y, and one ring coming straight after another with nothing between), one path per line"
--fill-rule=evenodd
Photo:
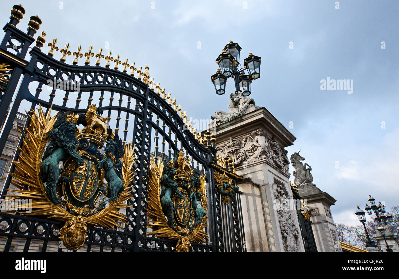
M232 158L244 177L238 186L247 251L304 251L284 149L296 138L251 100L237 112L217 111L209 126L221 156Z

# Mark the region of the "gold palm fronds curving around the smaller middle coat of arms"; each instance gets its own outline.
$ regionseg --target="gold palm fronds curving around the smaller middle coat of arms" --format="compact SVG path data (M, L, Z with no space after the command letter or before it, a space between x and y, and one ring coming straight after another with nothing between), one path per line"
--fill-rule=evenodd
M167 237L174 240L186 239L193 243L206 243L208 235L204 228L206 224L207 216L204 216L202 223L195 226L194 230L187 236L182 236L176 233L172 228L169 227L168 221L162 212L162 206L160 201L160 190L161 190L161 176L163 173L164 165L161 160L158 160L158 164L154 159L150 160L150 170L148 176L148 207L147 216L151 219L147 228L154 229L151 234L157 237ZM199 192L202 195L202 207L207 208L207 196L206 196L206 182L205 176L199 177L200 189Z

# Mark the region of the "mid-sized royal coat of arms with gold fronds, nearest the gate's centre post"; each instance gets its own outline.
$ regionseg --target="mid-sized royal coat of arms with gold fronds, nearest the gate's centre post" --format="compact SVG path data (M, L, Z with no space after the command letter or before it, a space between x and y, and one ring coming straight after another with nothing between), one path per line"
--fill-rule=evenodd
M207 240L206 182L179 152L174 158L150 160L148 228L157 237L178 240L176 251L189 251L191 243Z

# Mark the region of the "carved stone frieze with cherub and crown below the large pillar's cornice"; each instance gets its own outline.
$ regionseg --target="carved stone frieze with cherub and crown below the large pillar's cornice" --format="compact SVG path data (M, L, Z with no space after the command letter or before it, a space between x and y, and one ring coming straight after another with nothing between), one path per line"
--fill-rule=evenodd
M282 148L276 140L270 139L263 129L257 129L236 139L231 137L229 141L217 146L217 149L231 157L236 167L267 159L288 174L290 164L288 151Z

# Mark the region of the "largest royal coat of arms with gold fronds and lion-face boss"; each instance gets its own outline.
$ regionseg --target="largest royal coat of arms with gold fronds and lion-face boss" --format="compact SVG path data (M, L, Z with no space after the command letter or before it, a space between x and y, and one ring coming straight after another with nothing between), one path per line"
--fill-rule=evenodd
M50 117L50 112L30 111L20 159L10 173L20 189L12 191L19 194L7 197L32 199L31 215L65 222L61 240L76 250L85 242L87 225L127 224L119 210L132 196L134 146L107 128L109 118L101 117L95 105L85 114L60 111Z

